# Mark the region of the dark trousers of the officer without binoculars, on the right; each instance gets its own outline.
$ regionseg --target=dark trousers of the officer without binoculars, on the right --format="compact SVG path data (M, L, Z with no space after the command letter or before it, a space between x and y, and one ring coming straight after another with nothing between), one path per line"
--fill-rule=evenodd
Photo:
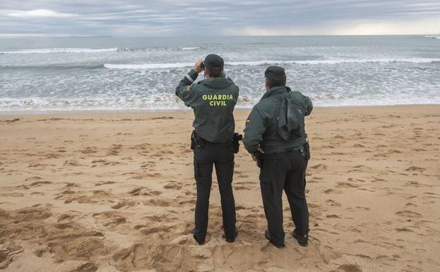
M309 210L305 194L306 168L307 160L299 150L264 155L260 170L261 196L270 240L277 244L283 244L285 237L281 199L283 190L289 201L295 232L299 235L309 232Z

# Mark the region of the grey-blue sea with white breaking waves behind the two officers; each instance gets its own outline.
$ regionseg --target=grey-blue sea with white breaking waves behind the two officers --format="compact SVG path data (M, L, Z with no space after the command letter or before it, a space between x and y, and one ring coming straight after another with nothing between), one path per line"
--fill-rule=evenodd
M14 38L0 39L0 113L183 109L174 88L210 53L237 107L258 102L270 65L316 106L440 104L440 35Z

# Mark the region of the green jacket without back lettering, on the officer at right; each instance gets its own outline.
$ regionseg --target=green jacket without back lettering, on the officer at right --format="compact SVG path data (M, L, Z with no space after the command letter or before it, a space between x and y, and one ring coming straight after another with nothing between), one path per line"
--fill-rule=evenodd
M278 115L284 97L289 96L295 109L301 110L302 118L299 119L301 137L294 141L285 141L278 135ZM306 143L306 131L304 129L304 116L311 113L313 106L309 97L302 93L294 92L286 86L278 86L268 90L260 102L254 106L246 120L243 144L249 153L254 154L260 146L266 154L279 153L302 146Z

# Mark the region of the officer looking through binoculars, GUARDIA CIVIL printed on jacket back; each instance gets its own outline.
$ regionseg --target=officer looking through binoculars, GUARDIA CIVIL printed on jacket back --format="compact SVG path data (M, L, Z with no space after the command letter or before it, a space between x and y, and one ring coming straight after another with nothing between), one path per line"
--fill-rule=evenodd
M194 146L194 177L197 185L197 201L194 239L198 244L205 242L208 229L209 196L213 165L217 174L222 204L223 229L227 242L237 237L235 227L235 201L232 193L234 172L234 111L239 88L223 73L224 61L210 54L204 61L197 61L176 88L176 95L185 105L194 110L194 132L191 146ZM205 72L206 78L193 84L198 73Z

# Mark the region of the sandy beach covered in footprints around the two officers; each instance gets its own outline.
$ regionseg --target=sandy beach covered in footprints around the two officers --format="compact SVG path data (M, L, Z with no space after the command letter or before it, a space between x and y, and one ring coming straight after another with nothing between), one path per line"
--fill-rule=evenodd
M235 112L242 131L247 110ZM0 117L0 271L440 271L440 105L317 108L307 117L308 247L265 240L258 168L241 146L239 235L190 231L192 112Z

